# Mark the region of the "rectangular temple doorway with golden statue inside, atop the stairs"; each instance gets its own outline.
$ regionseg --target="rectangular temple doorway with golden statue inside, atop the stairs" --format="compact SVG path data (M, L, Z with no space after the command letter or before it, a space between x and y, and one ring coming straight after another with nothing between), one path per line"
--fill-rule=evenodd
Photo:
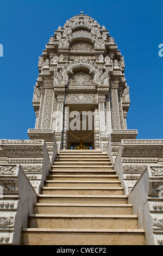
M66 148L95 149L95 104L71 103L65 108L67 112Z

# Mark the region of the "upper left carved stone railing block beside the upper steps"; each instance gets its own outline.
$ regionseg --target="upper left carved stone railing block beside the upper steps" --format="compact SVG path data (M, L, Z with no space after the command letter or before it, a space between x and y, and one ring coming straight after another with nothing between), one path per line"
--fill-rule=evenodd
M41 186L46 176L51 170L57 146L53 151L52 159L49 159L46 143L44 140L10 140L0 141L0 164L21 164L21 168L26 173L37 194L41 192ZM55 154L54 154L55 152Z

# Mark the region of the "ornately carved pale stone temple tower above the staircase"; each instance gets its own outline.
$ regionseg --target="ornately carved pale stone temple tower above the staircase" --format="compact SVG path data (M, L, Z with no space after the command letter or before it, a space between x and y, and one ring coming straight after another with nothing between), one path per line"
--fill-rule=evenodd
M55 31L39 57L39 72L33 96L36 124L28 131L30 138L50 142L47 133L54 130L58 150L71 149L78 140L65 129L66 106L70 112L95 111L94 131L84 141L92 149L106 151L111 130L127 129L130 100L124 58L108 30L90 16L81 12ZM74 131L76 137L89 133Z

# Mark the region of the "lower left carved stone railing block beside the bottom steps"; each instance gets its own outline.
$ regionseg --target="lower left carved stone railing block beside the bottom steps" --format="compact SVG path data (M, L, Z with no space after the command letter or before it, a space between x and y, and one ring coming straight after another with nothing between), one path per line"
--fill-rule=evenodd
M0 164L0 245L21 245L37 194L20 164Z

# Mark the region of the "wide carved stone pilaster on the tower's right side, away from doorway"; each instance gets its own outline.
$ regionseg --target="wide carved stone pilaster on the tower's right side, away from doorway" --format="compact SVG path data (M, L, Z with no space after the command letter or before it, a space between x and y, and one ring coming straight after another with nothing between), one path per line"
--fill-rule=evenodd
M112 129L121 129L117 88L118 84L111 84L109 90Z

